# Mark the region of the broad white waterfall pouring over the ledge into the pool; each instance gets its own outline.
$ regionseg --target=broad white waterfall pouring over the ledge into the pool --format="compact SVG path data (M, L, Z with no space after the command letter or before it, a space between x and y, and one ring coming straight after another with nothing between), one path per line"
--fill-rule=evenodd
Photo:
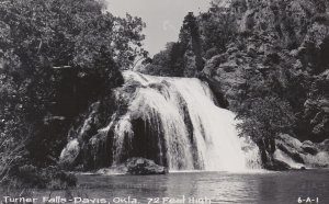
M126 111L113 129L113 163L145 157L169 170L240 171L250 155L237 135L235 114L215 105L205 82L195 78L123 72L125 84L115 90Z

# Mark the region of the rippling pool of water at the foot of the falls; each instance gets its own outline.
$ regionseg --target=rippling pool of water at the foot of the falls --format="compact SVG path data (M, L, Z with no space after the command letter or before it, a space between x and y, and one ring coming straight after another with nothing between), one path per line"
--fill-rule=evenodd
M34 191L33 197L77 196L88 197L89 200L84 200L84 203L102 203L103 201L134 203L137 201L143 204L329 203L329 170L248 173L177 172L140 177L78 175L78 179L77 189L55 192ZM77 200L78 203L80 200Z

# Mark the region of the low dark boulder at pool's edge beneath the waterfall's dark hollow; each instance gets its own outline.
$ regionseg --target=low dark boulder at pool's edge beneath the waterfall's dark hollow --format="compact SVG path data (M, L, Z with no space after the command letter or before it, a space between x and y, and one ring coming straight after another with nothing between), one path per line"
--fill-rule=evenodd
M166 167L158 166L152 160L131 158L126 161L127 173L133 175L166 174Z

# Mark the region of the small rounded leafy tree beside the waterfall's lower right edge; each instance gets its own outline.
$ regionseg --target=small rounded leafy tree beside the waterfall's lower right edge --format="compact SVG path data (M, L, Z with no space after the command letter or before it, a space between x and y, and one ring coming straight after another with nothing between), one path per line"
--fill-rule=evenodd
M249 136L260 148L262 161L266 152L275 150L275 138L280 134L292 134L295 116L290 104L276 97L250 98L241 103L237 118L240 136Z

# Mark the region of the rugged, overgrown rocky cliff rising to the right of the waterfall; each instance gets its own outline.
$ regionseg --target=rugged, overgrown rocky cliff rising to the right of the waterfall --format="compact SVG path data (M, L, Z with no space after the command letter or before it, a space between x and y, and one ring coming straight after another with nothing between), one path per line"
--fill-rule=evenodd
M262 88L290 102L298 139L328 139L328 8L325 0L231 1L237 36L202 72L222 105L235 111Z

